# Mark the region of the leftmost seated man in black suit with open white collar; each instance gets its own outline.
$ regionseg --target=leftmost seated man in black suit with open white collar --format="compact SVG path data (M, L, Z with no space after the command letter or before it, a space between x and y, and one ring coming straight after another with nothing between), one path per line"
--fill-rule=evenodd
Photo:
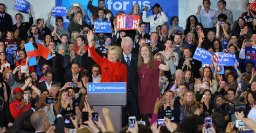
M47 69L44 71L45 79L42 82L39 82L37 87L39 90L51 90L52 85L58 84L58 82L52 81L52 71Z

